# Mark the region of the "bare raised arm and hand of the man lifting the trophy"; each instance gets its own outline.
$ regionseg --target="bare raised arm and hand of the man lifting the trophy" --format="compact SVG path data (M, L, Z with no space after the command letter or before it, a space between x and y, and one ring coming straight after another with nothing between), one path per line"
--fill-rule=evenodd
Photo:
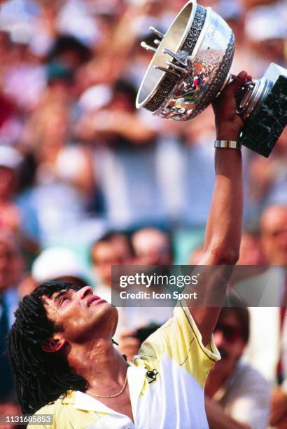
M229 83L220 99L214 106L216 115L216 139L237 141L243 122L236 114L235 92L246 81L251 80L246 71ZM220 265L223 276L228 275L225 265L235 265L239 257L242 222L242 172L241 151L239 149L216 149L215 154L216 182L211 201L207 229L204 239L204 256L200 265ZM221 302L225 294L226 283L218 282L218 270L209 276L207 282L200 284L202 302L210 303L216 291L216 302ZM213 272L211 271L211 274ZM219 273L220 274L220 273ZM218 297L219 295L219 297ZM197 327L206 345L210 338L220 307L193 306L186 301Z

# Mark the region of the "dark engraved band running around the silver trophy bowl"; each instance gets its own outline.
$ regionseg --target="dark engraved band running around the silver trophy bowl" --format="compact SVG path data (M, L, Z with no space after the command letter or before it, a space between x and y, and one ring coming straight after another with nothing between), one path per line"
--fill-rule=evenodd
M197 39L200 36L200 32L202 31L202 27L204 25L206 15L207 15L206 9L200 5L197 5L195 18L193 20L193 24L190 27L190 32L188 33L186 41L183 44L182 50L188 50L189 52L192 52L192 50L195 47L195 43L197 42ZM145 109L148 109L150 111L157 110L162 104L162 102L164 102L166 98L169 96L171 89L174 88L174 86L179 83L180 79L181 79L181 76L176 77L176 76L172 76L171 74L166 74L165 78L160 84L160 88L158 88L158 91L157 93L155 93L152 100L145 105Z

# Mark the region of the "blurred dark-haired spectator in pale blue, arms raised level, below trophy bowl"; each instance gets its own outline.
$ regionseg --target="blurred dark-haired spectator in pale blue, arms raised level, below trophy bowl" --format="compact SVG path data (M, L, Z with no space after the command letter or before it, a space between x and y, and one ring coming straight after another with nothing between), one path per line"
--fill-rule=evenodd
M78 125L79 137L94 142L96 181L116 229L162 224L167 217L158 179L158 130L135 111L135 97L130 83L117 81L106 109L88 112Z

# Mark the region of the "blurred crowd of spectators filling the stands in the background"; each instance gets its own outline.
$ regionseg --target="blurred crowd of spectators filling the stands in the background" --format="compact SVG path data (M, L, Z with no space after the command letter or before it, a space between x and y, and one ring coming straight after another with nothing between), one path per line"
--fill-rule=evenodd
M185 3L0 1L0 414L17 414L18 407L2 353L5 335L18 300L37 284L88 282L110 300L112 264L200 260L214 185L213 111L176 122L135 108L151 60L140 42L152 45L148 27L165 33ZM246 69L258 79L270 62L286 67L286 1L199 3L235 33L233 73ZM258 282L281 266L282 298L286 130L269 158L245 148L243 155L239 264L269 267ZM211 428L265 428L268 420L287 427L280 306L223 311L216 329L223 359L207 383ZM143 339L139 329L170 315L169 308L120 308L122 353L131 358Z

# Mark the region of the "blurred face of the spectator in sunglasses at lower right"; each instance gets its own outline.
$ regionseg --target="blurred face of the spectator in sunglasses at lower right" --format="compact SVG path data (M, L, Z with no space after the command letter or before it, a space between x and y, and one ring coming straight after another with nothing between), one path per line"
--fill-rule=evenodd
M214 341L221 353L221 360L216 363L216 368L228 371L232 369L245 347L242 327L235 313L228 313L218 319L214 331Z

